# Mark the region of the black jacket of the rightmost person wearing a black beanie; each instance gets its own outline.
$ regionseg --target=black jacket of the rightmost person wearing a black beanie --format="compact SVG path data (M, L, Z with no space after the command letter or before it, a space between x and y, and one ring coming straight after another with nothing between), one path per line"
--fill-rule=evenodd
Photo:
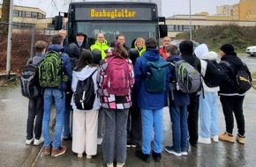
M230 62L230 65L225 62ZM225 72L225 77L220 85L219 95L245 96L245 92L239 92L237 90L236 74L237 70L243 66L243 62L237 57L237 53L232 52L222 56L220 65Z

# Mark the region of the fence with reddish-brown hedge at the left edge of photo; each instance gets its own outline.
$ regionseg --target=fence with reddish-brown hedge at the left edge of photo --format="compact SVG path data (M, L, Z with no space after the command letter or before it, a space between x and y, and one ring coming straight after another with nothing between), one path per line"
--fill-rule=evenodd
M4 27L4 25L9 24L0 22L0 27ZM11 34L3 33L0 30L0 73L3 74L5 70L7 77L10 76L10 73L19 73L24 68L28 58L34 55L35 41L44 40L49 43L51 36L57 33L53 29L39 28L35 25L11 25ZM8 47L9 49L7 49Z

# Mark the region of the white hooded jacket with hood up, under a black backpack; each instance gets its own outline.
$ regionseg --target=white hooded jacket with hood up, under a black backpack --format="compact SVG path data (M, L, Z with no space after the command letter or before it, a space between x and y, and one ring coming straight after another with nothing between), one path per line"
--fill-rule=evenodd
M200 74L202 76L206 75L206 71L207 71L207 62L204 60L217 60L218 59L218 55L215 52L209 52L208 47L206 44L201 44L200 46L195 48L195 54L198 58L200 58L200 63L201 63L201 71ZM203 84L203 89L204 92L217 92L220 90L219 86L217 87L213 87L213 88L209 88L207 86L207 84L204 83L203 78L201 78L202 80L202 84Z

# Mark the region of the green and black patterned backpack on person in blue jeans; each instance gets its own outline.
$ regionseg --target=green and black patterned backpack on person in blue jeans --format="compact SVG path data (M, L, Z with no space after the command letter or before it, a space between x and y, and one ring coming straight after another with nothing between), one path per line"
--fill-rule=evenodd
M39 65L39 82L42 87L56 87L63 81L61 52L49 51Z

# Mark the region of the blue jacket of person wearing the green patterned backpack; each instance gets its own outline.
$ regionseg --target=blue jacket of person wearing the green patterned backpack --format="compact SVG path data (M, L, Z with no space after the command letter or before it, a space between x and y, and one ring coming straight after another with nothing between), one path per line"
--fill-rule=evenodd
M62 47L61 45L58 44L51 44L48 47L48 51L56 51L56 52L63 52L64 51L64 47ZM70 57L68 54L61 54L61 60L62 60L62 71L64 71L64 75L69 77L69 82L72 81L72 65L71 65L71 61L70 61ZM58 90L63 90L66 91L67 90L67 84L62 82L61 84L59 84L56 89Z

